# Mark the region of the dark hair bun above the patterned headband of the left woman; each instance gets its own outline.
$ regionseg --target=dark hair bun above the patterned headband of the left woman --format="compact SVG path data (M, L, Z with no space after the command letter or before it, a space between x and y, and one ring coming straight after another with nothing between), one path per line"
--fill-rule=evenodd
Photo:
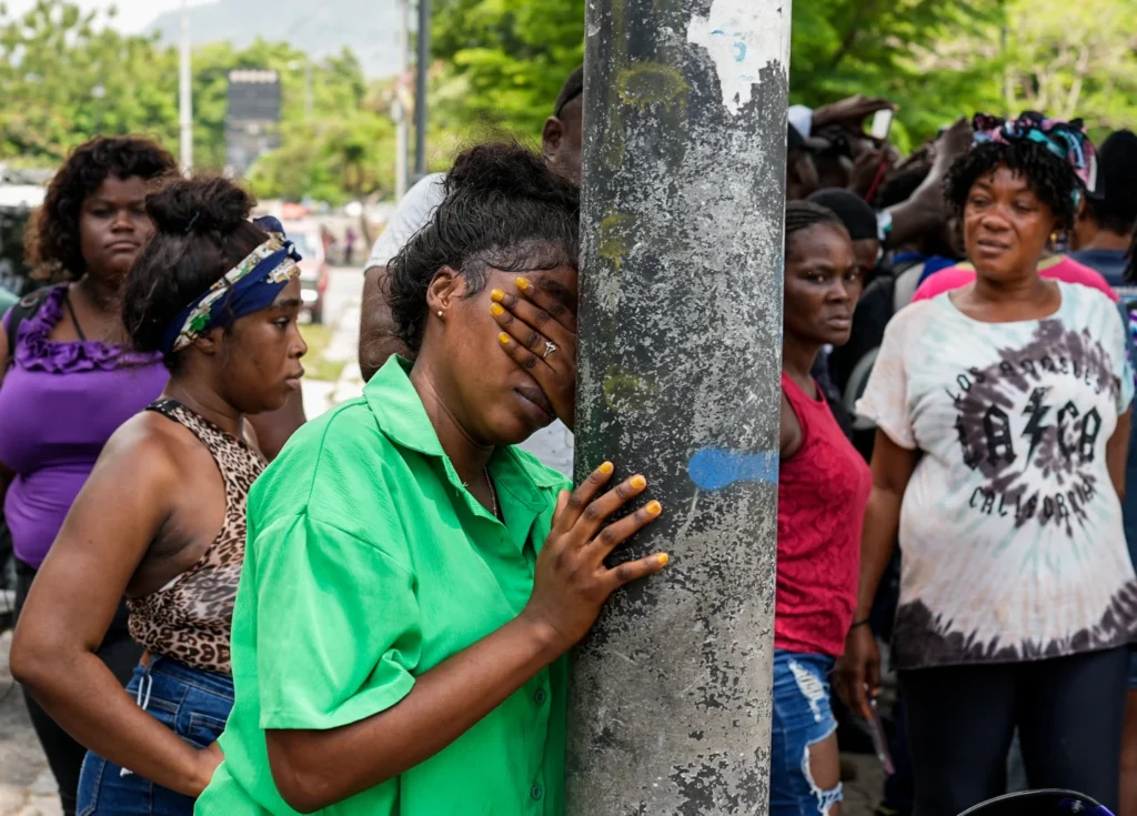
M161 233L226 235L248 222L256 199L221 176L173 178L147 197L146 210Z

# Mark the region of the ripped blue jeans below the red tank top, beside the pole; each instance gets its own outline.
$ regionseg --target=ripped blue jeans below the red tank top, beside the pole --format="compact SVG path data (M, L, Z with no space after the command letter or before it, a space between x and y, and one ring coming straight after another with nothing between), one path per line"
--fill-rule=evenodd
M829 705L833 663L774 649L770 816L824 816L841 801L839 781L822 790L810 771L810 747L837 731Z

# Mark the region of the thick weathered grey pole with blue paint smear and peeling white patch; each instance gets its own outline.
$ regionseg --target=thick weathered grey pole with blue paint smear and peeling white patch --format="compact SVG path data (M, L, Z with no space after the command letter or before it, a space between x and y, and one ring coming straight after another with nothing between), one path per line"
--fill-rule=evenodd
M664 516L578 649L570 816L764 814L790 0L589 0L576 474Z

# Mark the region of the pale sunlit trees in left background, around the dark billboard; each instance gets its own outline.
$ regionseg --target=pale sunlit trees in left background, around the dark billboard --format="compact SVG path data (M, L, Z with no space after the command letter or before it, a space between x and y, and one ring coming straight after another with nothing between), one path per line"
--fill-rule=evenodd
M0 7L0 160L55 166L94 134L150 135L177 148L177 52L107 26L69 0L26 14ZM264 197L341 202L393 188L389 83L368 82L348 51L309 64L284 43L229 43L193 53L194 165L225 165L229 72L281 75L282 147L250 174ZM309 107L310 100L310 107Z

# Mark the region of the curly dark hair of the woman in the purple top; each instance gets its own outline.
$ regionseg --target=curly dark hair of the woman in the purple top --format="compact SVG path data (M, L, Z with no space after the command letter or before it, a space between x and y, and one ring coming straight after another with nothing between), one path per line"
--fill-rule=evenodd
M97 138L75 148L56 173L43 206L36 210L28 252L33 266L80 278L86 272L80 244L78 218L83 201L108 176L147 181L177 169L167 150L139 136Z

